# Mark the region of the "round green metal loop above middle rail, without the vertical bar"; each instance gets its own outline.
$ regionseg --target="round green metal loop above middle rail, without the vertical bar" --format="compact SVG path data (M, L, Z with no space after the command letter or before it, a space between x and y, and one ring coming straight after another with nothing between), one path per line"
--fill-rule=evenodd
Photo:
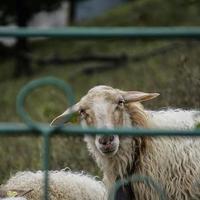
M24 108L25 99L34 89L41 86L49 86L49 85L56 86L57 88L61 89L65 94L70 106L73 105L75 102L73 90L67 83L65 83L60 79L54 77L47 77L29 82L20 90L20 92L17 95L16 109L21 119L32 129L40 130L41 127L39 126L38 123L35 123L31 119L30 115L25 111Z

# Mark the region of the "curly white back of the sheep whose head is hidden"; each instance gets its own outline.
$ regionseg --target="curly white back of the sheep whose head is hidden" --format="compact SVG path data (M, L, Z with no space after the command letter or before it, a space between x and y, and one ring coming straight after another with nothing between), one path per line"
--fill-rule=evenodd
M16 193L16 196L20 196L21 193L26 200L41 200L44 193L43 186L43 171L24 171L12 176L7 183L1 186L0 191L5 191L6 194L8 192ZM106 189L101 181L83 173L64 170L49 171L48 191L51 200L107 199Z

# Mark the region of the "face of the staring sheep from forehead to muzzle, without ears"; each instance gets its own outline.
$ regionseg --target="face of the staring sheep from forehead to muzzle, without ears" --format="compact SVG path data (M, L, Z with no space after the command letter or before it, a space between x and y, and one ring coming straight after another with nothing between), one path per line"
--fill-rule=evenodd
M122 95L108 88L98 89L90 90L88 95L81 100L79 109L81 125L108 129L123 126L125 106ZM93 139L96 148L103 155L114 155L118 150L119 137L117 135L97 135Z

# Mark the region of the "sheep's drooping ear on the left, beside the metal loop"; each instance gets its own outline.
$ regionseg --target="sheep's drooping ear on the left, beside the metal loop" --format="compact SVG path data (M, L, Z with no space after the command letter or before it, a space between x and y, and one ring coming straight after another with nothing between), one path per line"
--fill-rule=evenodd
M68 108L64 113L62 113L61 115L59 115L55 119L53 119L50 126L58 126L58 125L62 125L64 123L66 123L66 122L69 122L69 120L70 120L69 115L77 113L79 111L79 108L80 108L79 103Z

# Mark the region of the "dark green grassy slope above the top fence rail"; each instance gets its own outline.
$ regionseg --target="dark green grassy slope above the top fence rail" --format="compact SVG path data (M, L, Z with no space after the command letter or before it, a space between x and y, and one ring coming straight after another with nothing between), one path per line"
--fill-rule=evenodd
M199 1L135 0L97 18L100 26L182 26L199 25ZM86 23L93 25L94 21Z

